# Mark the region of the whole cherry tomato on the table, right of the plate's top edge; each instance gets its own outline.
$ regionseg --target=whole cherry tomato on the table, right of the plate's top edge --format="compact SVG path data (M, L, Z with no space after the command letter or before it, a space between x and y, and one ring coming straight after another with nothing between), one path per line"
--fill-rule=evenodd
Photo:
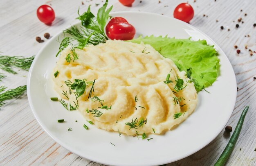
M194 17L193 7L188 3L181 3L174 9L173 17L189 23Z

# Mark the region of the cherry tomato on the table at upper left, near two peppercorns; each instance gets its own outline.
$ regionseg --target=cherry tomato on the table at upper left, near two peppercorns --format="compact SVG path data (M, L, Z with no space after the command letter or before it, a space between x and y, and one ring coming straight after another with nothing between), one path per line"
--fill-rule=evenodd
M45 24L51 24L55 19L54 10L52 9L52 7L46 4L43 4L42 6L38 7L36 15L38 19Z

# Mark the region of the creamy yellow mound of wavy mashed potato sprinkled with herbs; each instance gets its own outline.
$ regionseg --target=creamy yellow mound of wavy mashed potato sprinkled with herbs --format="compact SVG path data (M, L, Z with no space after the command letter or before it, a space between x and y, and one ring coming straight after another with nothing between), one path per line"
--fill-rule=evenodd
M72 54L70 49L63 50L56 63L53 72L58 70L59 74L53 76L54 89L63 99L67 99L63 91L67 92L67 100L74 106L75 91L70 95L64 81L86 79L85 92L77 98L79 111L98 128L127 135L136 131L159 134L180 124L196 107L197 93L185 72L150 45L108 40L76 49L79 59L68 63L65 58ZM168 74L172 82L166 84ZM94 92L88 98L94 79ZM182 80L184 84L179 87L177 82ZM95 117L95 110L102 114Z

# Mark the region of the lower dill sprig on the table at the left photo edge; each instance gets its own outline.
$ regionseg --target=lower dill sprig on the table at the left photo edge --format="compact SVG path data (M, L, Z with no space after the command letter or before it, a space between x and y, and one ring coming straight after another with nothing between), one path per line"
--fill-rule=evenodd
M17 98L20 95L22 95L27 90L27 85L19 86L14 89L7 90L3 92L6 89L4 86L0 86L0 108L6 104L5 100L11 100L13 98Z

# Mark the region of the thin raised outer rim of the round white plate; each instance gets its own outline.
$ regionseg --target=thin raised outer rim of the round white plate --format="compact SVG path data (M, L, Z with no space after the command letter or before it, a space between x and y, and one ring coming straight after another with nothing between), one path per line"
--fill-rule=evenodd
M120 13L121 13L121 14L135 13L135 14L146 14L146 15L155 15L155 16L167 17L168 19L172 19L172 20L175 20L175 21L177 21L177 22L180 22L181 24L184 24L184 25L186 25L186 26L189 26L190 28L193 28L193 29L195 29L196 31L200 32L201 34L203 34L205 37L208 38L208 39L207 39L207 43L208 43L208 41L211 41L211 42L214 44L214 46L217 46L217 47L219 48L218 51L219 51L219 52L222 52L223 55L225 55L224 57L225 57L225 59L228 61L229 65L231 66L231 69L232 69L232 77L234 77L234 80L235 80L235 81L234 81L234 84L237 86L237 81L236 81L236 76L235 76L234 68L232 67L232 65L231 65L231 63L230 63L230 61L229 61L227 55L225 54L225 52L221 49L220 46L218 46L218 44L216 44L216 42L213 41L213 39L211 39L208 35L206 35L206 34L203 33L202 31L200 31L198 28L192 26L191 24L188 24L188 23L186 23L186 22L183 22L183 21L181 21L181 20L175 19L175 18L173 18L173 17L168 17L168 16L166 16L166 15L161 15L161 14L158 14L158 13L150 13L150 12L142 12L142 11L116 11L116 12L110 12L110 15L111 15L111 14L120 14ZM70 26L68 26L67 28L64 28L63 30L68 29L68 28L70 28L71 26L78 25L79 23L80 23L80 21L75 22L74 24L71 24ZM39 119L37 118L37 116L36 116L36 112L34 111L35 108L34 108L34 105L33 105L33 103L32 103L32 100L31 100L30 81L31 81L31 73L32 73L32 70L34 69L35 63L36 63L36 61L37 61L39 55L41 54L41 52L43 52L43 50L49 45L49 43L52 42L52 40L55 39L55 37L61 35L61 34L63 33L63 30L61 30L60 32L56 33L56 35L54 35L51 39L49 39L49 41L48 41L48 42L38 51L38 53L36 54L36 56L35 56L35 58L34 58L34 61L32 62L31 67L30 67L30 69L29 69L29 74L28 74L28 78L27 78L27 98L28 98L28 101L29 101L29 106L30 106L30 108L31 108L31 111L32 111L32 113L33 113L33 115L34 115L36 121L37 121L38 124L40 125L40 127L42 127L43 130L44 130L55 142L57 142L58 144L60 144L63 148L67 149L68 151L70 151L70 152L72 152L72 153L74 153L74 154L76 154L76 155L79 155L79 156L83 157L83 155L80 155L79 153L76 153L76 152L74 152L73 150L68 149L64 142L62 142L62 141L59 140L58 138L54 138L54 137L45 129L45 127L43 126L43 124L40 122L40 120L39 120ZM237 98L237 91L235 91L235 94L236 94L236 95L234 95L233 110L230 111L230 115L228 116L229 118L225 120L225 125L227 124L227 122L228 122L229 119L231 118L231 115L233 114L233 111L234 111L234 107L235 107L235 104L236 104L236 98ZM223 120L223 121L224 121L224 120ZM223 128L225 127L225 125L224 125L216 134L214 134L214 135L216 135L216 136L214 136L213 138L209 139L210 141L207 141L207 143L201 144L200 146L198 146L198 148L197 148L196 150L194 150L193 152L191 152L191 153L185 153L184 155L182 155L182 157L178 157L177 159L174 159L174 160L173 160L173 159L172 159L172 160L166 159L165 161L155 162L154 164L151 164L151 165L152 165L152 166L157 166L157 165L159 165L159 164L168 164L168 163L170 163L170 162L175 162L175 161L177 161L177 160L180 160L180 159L183 159L183 158L188 157L188 156L190 156L190 155L193 155L194 153L200 151L200 150L203 149L205 146L207 146L209 143L211 143L211 142L220 134L220 132L221 132L221 131L223 130ZM101 161L97 161L97 160L91 159L90 157L83 157L83 158L88 159L88 160L93 161L93 162L96 162L96 163L99 163L99 164L105 164L105 165L106 165L106 164L111 164L111 165L113 164L113 165L116 165L116 164L114 164L113 162L112 162L112 163L108 163L108 162L103 163L103 162L101 162ZM125 166L127 165L127 164L125 164L125 163L123 163L123 164L124 164ZM127 166L128 166L128 165L127 165ZM146 166L146 164L142 164L141 166Z

